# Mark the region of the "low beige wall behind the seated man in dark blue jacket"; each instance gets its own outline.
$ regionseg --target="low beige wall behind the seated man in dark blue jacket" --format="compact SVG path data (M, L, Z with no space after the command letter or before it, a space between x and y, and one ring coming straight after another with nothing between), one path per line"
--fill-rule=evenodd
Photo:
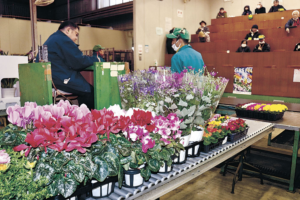
M38 44L43 44L57 31L59 24L37 22ZM31 50L31 28L29 20L0 17L0 48L9 54L25 54ZM89 50L96 44L117 50L131 49L132 32L80 26L79 49Z

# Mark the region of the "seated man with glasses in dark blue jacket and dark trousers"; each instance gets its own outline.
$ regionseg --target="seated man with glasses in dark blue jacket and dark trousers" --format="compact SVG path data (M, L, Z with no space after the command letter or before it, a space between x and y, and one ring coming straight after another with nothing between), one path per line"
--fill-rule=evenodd
M51 62L52 80L56 88L77 95L79 105L86 104L89 109L93 109L94 87L83 78L80 71L100 60L82 55L79 45L75 43L78 32L78 25L64 21L44 45L48 46L48 60ZM36 60L38 62L38 55Z

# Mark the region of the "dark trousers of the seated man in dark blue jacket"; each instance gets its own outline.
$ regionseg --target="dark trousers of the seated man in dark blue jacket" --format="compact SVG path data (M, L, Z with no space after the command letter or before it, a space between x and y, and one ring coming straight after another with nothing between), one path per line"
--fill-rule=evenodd
M86 92L80 92L78 90L74 90L70 87L66 87L64 85L55 85L56 88L58 90L62 90L64 92L68 92L68 93L72 93L73 95L76 95L78 96L78 104L79 106L81 104L85 104L88 109L95 109L95 104L94 104L94 87L90 85L90 88L91 88L91 92L90 93L86 93Z

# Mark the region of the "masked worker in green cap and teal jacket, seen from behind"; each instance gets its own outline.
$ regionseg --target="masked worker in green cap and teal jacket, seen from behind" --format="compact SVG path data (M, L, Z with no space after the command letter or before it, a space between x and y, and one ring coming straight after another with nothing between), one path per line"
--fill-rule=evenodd
M175 28L173 33L167 34L167 38L172 38L172 48L176 51L171 59L171 71L182 72L186 69L194 69L194 72L202 70L204 62L201 54L190 45L190 34L185 28Z

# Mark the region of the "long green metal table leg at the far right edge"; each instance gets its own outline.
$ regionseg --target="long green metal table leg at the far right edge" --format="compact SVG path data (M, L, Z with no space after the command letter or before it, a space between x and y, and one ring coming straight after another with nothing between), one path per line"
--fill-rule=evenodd
M291 167L291 175L289 179L289 190L287 190L288 192L292 192L292 193L295 193L294 182L295 182L297 155L298 155L298 142L299 142L299 131L295 131L293 154L292 154L292 167Z

